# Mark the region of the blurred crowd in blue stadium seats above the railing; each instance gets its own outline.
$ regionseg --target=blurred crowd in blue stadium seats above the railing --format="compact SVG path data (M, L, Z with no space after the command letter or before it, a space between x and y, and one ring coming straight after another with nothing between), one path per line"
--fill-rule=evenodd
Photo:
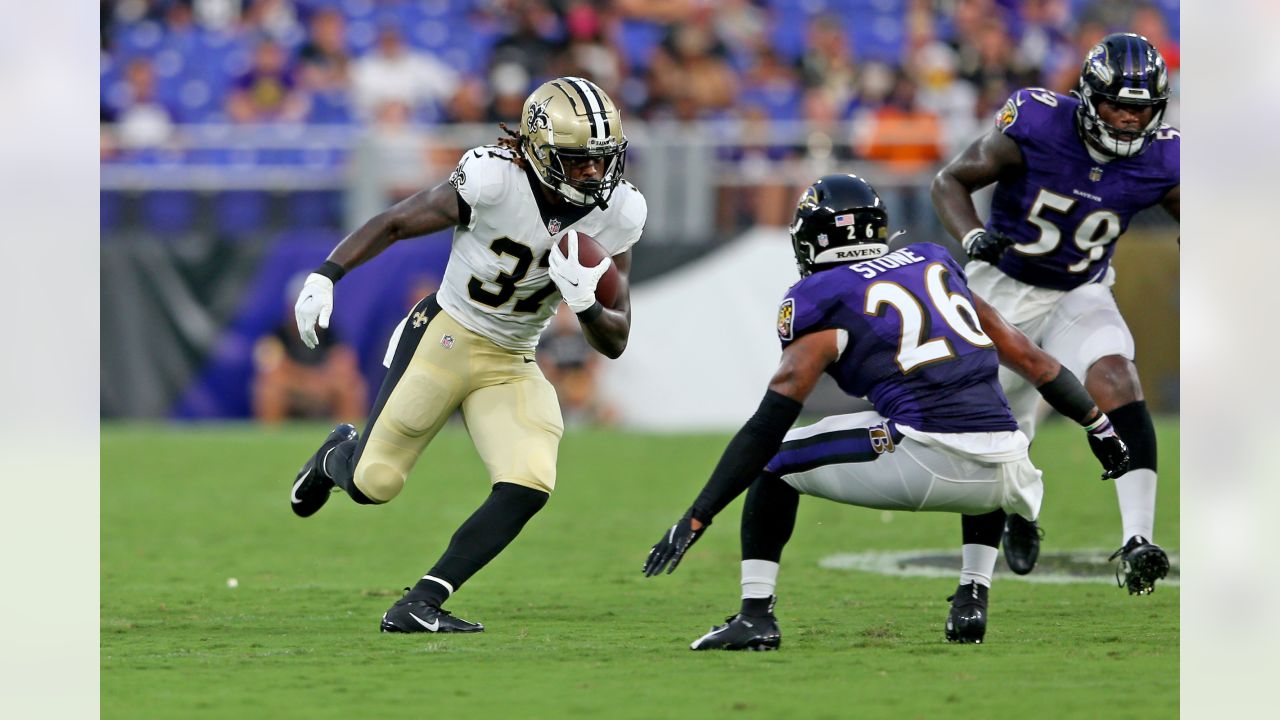
M631 118L891 117L860 152L910 164L1016 87L1073 87L1106 32L1176 72L1176 18L1178 0L101 0L101 113L124 146L188 122L497 122L576 74Z

